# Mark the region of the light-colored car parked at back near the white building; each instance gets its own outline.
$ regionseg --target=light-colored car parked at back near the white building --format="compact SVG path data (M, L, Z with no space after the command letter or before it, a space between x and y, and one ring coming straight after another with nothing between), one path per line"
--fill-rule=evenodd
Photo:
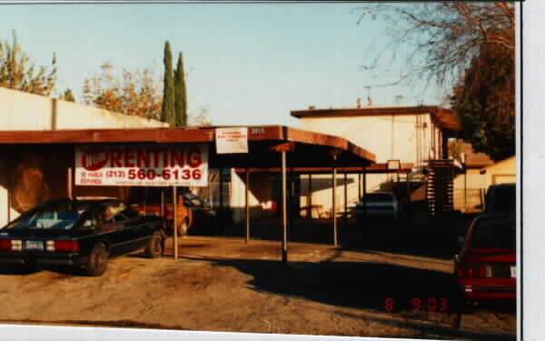
M397 219L400 216L400 203L391 192L372 192L362 197L356 205L356 218L363 223L366 218Z

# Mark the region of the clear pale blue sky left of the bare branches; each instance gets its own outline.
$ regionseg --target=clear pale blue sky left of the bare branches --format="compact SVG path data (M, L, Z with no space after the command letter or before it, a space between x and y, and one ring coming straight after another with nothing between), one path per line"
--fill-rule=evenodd
M85 78L110 62L121 73L153 66L163 46L183 52L189 111L209 110L215 125L299 126L290 110L350 107L368 91L374 105L435 105L436 90L377 87L400 75L401 59L371 65L383 23L363 20L358 4L0 5L0 38L18 42L36 65L57 54L57 90L82 100ZM175 59L175 58L174 58ZM174 60L175 64L175 60ZM372 85L371 89L365 86Z

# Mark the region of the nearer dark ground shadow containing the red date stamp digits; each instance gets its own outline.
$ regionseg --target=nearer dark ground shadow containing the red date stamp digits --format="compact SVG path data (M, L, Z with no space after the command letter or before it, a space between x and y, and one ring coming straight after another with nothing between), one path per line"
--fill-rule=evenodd
M184 257L192 259L192 257ZM202 258L201 258L202 259ZM213 259L252 276L257 292L302 298L330 306L361 309L336 314L421 330L421 337L471 337L475 340L514 340L514 336L484 335L459 329L465 306L453 276L440 271L376 263L325 261L288 266L274 260Z

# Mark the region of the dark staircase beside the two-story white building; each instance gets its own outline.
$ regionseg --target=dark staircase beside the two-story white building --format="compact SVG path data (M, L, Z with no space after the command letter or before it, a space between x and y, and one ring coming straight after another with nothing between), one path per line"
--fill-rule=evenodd
M429 160L426 199L430 216L454 209L454 168L452 160Z

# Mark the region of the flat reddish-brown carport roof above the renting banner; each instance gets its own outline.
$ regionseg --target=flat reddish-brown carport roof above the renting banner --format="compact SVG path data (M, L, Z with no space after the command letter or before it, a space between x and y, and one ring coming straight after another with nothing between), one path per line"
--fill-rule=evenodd
M226 127L226 126L222 126ZM229 126L235 127L235 126ZM236 126L238 127L238 126ZM289 166L327 166L337 155L338 166L365 166L375 162L375 155L350 141L283 125L245 125L248 128L248 154L216 154L215 128L131 128L48 131L0 131L0 145L27 149L29 145L88 144L208 144L212 167L274 167L280 158L271 152L288 151ZM14 151L13 148L10 148Z

